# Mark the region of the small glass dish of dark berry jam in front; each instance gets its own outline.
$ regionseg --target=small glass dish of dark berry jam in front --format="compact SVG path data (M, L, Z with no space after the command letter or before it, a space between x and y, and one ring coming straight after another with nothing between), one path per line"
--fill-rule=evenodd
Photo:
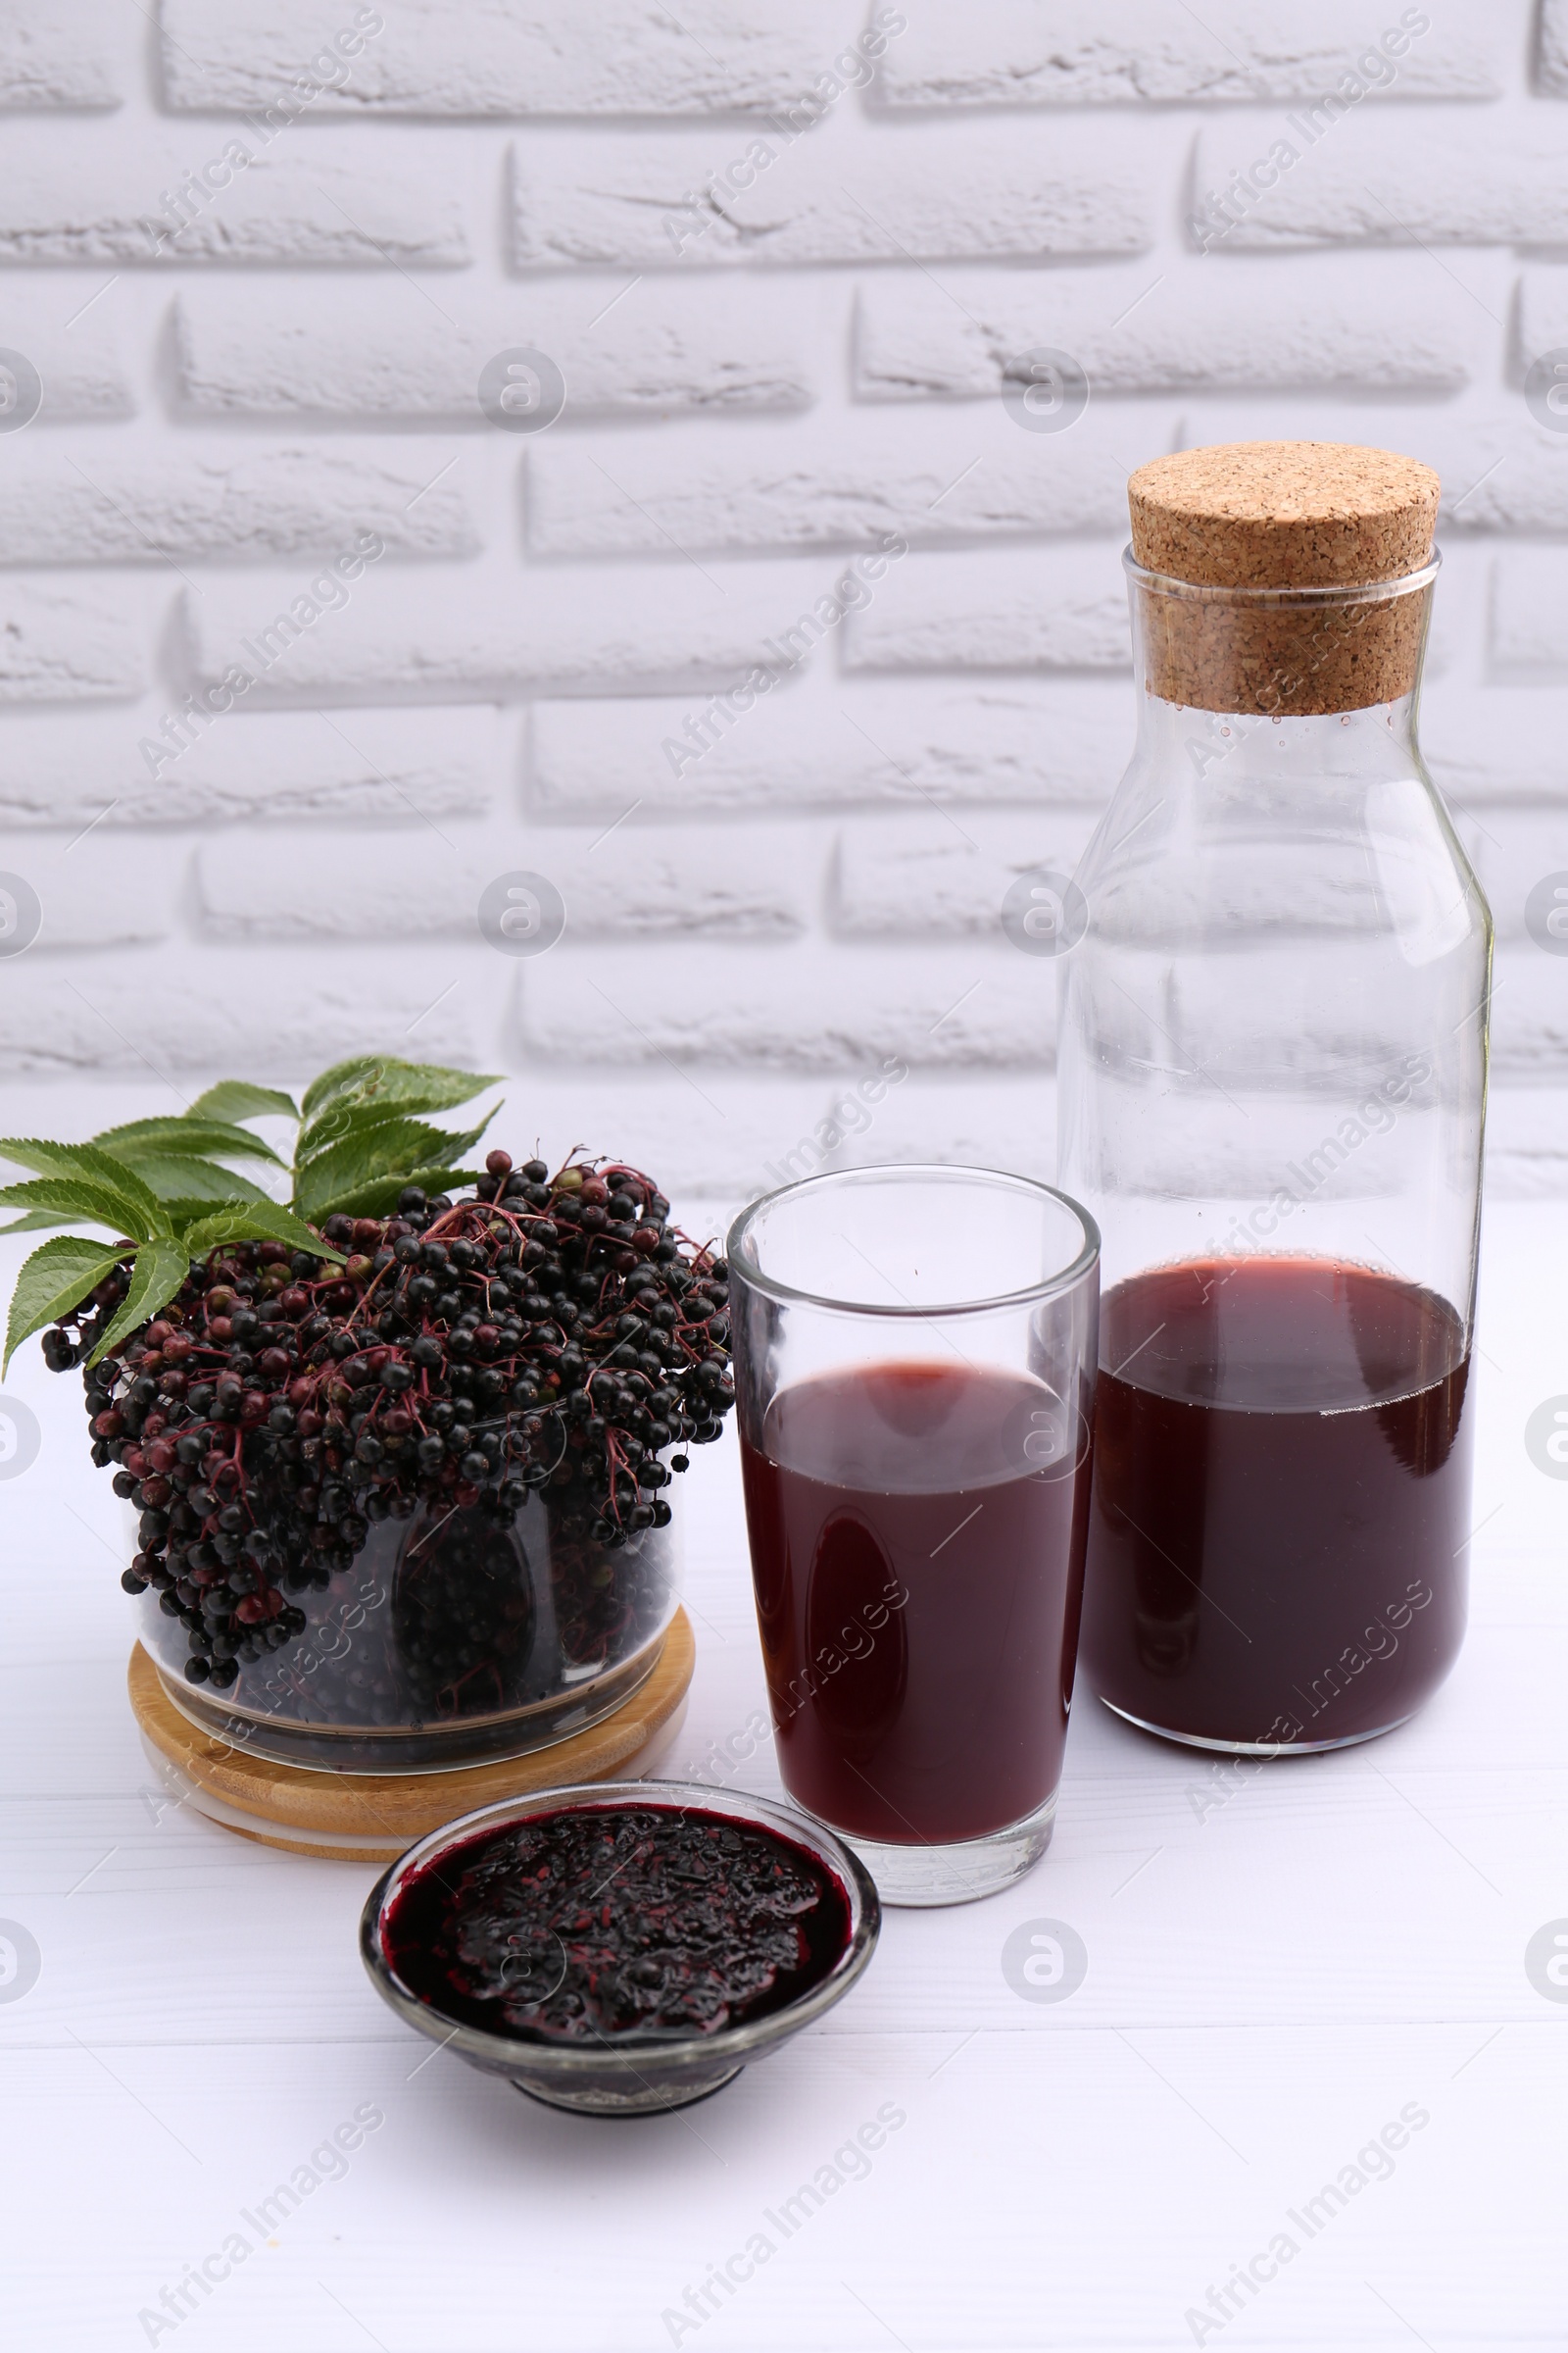
M684 2108L811 2026L872 1958L851 1849L696 1781L536 1791L433 1831L376 1882L360 1953L418 2033L588 2115Z

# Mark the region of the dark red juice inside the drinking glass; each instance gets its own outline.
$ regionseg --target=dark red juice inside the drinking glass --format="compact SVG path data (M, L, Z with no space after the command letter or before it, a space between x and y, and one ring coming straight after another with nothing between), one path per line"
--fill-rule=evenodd
M783 1388L743 1435L790 1795L889 1845L985 1838L1056 1791L1088 1449L1027 1374L889 1362Z

